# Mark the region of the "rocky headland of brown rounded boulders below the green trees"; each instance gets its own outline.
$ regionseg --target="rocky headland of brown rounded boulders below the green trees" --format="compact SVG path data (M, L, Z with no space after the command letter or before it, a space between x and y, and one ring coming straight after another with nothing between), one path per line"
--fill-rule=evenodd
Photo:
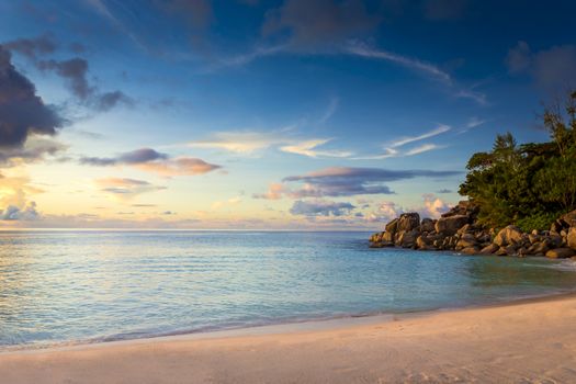
M509 225L486 228L477 223L479 206L461 201L440 218L422 218L416 212L402 214L372 235L372 248L402 247L448 250L461 255L576 257L576 211L558 217L550 230L524 233Z

